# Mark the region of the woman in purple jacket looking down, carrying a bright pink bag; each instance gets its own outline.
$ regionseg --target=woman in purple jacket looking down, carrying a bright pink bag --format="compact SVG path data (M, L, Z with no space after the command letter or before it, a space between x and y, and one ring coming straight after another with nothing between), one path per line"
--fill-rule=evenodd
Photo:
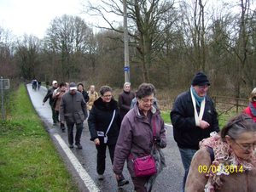
M156 176L165 167L164 155L160 148L166 147L166 129L160 110L153 106L155 93L154 85L150 83L139 86L136 92L137 104L122 121L114 152L113 172L116 178L120 178L126 160L134 190L137 192L151 191ZM157 173L137 177L133 161L144 155L154 157Z

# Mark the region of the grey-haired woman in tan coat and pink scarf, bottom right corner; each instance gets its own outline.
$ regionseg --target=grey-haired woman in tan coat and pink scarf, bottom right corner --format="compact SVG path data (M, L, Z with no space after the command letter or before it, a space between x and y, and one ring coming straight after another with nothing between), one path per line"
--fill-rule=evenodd
M211 161L208 147L214 160ZM244 192L256 189L256 123L247 114L234 116L200 143L191 162L185 191Z

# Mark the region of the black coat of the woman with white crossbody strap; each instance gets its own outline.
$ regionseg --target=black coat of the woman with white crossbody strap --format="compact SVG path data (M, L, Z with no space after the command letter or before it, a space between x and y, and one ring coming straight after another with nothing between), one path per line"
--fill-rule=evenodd
M116 144L119 137L119 129L122 119L120 116L118 103L113 99L111 99L109 104L103 102L102 98L99 98L94 102L88 118L90 140L93 141L95 138L99 138L101 144L103 144L103 138L98 137L96 131L102 131L104 133L107 132L109 123L112 120L113 110L115 110L115 116L107 135L108 144Z

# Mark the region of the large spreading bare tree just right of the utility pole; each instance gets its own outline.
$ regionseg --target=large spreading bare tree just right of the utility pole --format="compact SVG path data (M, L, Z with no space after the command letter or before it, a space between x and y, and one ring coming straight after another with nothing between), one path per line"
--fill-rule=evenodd
M108 19L107 14L123 16L123 1L119 0L100 0L100 4L89 3L89 9L84 12L90 15L101 16L108 23L105 28L123 33L113 22ZM157 48L160 41L160 34L165 30L166 12L173 8L174 3L167 0L131 0L127 1L128 35L130 36L130 45L137 48L137 56L141 62L143 81L149 82L149 71L151 63L155 59ZM123 65L122 65L123 66Z

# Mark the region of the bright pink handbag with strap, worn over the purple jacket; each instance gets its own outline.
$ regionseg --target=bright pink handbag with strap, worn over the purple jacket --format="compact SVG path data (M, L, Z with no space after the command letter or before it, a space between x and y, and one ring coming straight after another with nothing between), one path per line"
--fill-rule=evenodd
M154 121L154 116L153 116L153 121ZM155 121L154 121L154 139L155 138L156 138L156 128L155 128ZM134 172L138 178L151 176L157 172L154 158L151 155L140 156L136 160L133 160L132 155L130 153L130 158L134 165Z

